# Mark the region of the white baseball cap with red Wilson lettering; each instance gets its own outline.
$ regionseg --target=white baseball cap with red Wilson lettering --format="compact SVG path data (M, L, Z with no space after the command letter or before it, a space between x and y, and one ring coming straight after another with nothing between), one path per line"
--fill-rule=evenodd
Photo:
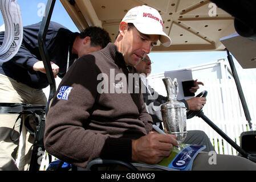
M165 47L169 47L172 43L172 40L163 31L164 23L159 11L152 7L145 5L133 7L124 16L122 22L133 23L142 34L160 35L159 40Z

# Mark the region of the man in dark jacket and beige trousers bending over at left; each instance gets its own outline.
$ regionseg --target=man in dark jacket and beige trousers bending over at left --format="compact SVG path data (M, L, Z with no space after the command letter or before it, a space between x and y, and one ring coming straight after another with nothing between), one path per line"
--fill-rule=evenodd
M42 89L48 86L46 71L39 53L38 31L40 22L23 27L23 41L18 53L13 59L0 64L0 102L45 105L47 100ZM5 32L0 33L2 44ZM71 32L61 24L50 22L46 35L46 47L51 61L54 76L62 78L74 61L90 52L104 48L111 39L108 33L100 27L88 27L80 32ZM15 158L17 155L18 140L13 142L10 133L14 126L11 138L19 137L17 115L0 115L0 170L17 170ZM19 169L28 169L33 139L22 127L23 140L29 140L23 146L26 159L21 158ZM26 135L27 133L27 135ZM25 167L26 165L26 167Z

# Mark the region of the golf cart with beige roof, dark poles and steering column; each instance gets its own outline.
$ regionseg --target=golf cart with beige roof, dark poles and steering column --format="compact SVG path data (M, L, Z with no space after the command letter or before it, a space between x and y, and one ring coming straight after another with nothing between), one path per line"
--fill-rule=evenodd
M187 51L226 51L227 59L229 60L230 68L234 76L235 84L239 93L239 97L242 102L243 111L248 122L251 131L246 131L241 134L241 145L238 146L232 139L230 139L221 129L218 128L209 118L207 118L202 110L196 112L187 113L188 117L201 117L213 130L220 134L231 146L239 152L239 155L248 158L255 162L256 144L251 145L251 142L255 143L255 131L252 130L251 118L249 109L243 95L242 86L239 82L238 74L235 69L233 59L230 55L231 50L220 41L221 38L239 32L243 39L251 39L250 41L255 42L255 27L256 21L253 18L250 19L252 26L250 27L247 22L243 22L243 16L241 14L233 12L233 6L235 3L231 1L230 7L225 5L218 5L220 1L201 1L201 0L164 0L164 1L153 1L153 0L60 0L67 13L75 23L79 30L82 30L88 26L100 26L109 32L112 42L115 40L119 23L125 13L135 6L148 5L159 10L164 20L164 31L172 38L172 45L170 47L163 47L157 44L152 49L152 52L187 52ZM216 3L213 4L212 2ZM226 1L228 2L228 1ZM233 2L233 1L232 1ZM51 71L50 60L48 59L47 49L44 44L44 38L48 24L51 19L52 11L54 11L54 0L48 0L46 6L46 16L43 17L42 25L39 31L38 41L40 47L40 54L42 56L44 67L46 68L46 74L48 82L50 84L50 95L48 103L45 107L45 113L47 115L48 106L51 98L54 96L56 91L55 79ZM217 7L217 6L220 7ZM242 8L242 7L240 7ZM245 11L246 12L246 11ZM250 14L249 11L246 13ZM255 15L254 12L252 12ZM253 16L255 18L255 16ZM238 21L240 20L240 21ZM245 23L247 28L239 29L239 23L234 27L234 22ZM210 28L209 28L210 27ZM242 26L246 27L246 26ZM250 31L248 31L250 30ZM254 40L253 40L254 39ZM232 52L233 53L233 52ZM235 52L233 53L235 55ZM241 61L241 65L247 65L245 68L256 68L256 63L247 59L238 59ZM255 59L255 58L254 58ZM199 94L198 97L206 97L206 94ZM44 120L42 120L44 121ZM38 156L36 151L41 147L42 150L42 132L44 131L44 123L40 125L40 131L36 135L40 138L35 140L34 150L35 153L32 156L34 160L31 160L31 164L37 161ZM135 169L129 163L123 163L120 161L109 161L109 160L96 160L93 161L90 167L94 165L102 165L109 163L119 163L127 166L129 169ZM61 165L60 165L61 164ZM58 164L58 167L62 167L63 163ZM38 170L39 166L31 165L31 170ZM91 168L91 169L92 169Z

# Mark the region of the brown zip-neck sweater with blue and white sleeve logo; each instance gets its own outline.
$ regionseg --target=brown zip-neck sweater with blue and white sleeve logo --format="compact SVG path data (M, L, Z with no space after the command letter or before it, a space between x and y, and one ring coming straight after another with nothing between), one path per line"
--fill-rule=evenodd
M131 140L148 134L153 123L142 94L134 93L139 83L133 79L130 84L133 73L136 69L125 65L113 43L80 57L60 82L48 111L46 150L79 167L99 157L131 161Z

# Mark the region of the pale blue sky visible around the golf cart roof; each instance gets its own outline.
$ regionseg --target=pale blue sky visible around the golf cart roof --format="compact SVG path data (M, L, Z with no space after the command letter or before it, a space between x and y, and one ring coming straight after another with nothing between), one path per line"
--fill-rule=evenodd
M47 4L47 0L17 0L21 9L23 26L38 23L42 21L43 10ZM52 21L58 22L73 32L77 32L74 22L62 6L59 0L56 0L54 11L52 13ZM0 26L3 24L2 14L0 16ZM153 60L152 74L190 67L192 65L204 64L218 59L227 57L225 51L216 52L172 52L172 53L149 53L149 57ZM254 75L256 78L256 69L242 69L237 60L234 60L238 75L241 78L247 75Z

